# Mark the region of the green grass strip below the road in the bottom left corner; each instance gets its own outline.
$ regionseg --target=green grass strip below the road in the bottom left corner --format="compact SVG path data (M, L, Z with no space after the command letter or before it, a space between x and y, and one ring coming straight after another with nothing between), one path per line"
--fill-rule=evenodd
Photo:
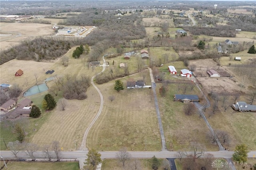
M0 162L1 166L4 164ZM3 170L79 170L78 162L11 162Z

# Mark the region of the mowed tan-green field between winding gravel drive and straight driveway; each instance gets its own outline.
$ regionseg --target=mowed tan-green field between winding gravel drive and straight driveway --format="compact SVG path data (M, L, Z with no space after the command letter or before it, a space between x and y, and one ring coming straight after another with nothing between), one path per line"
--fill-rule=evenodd
M142 77L136 74L120 79L125 87L120 92L114 90L115 81L98 85L104 96L104 107L88 134L88 148L106 151L127 147L138 151L145 150L146 144L148 151L161 150L152 91L148 88L126 89L127 79L137 81ZM150 82L149 71L145 81ZM112 102L108 99L110 95L115 97Z

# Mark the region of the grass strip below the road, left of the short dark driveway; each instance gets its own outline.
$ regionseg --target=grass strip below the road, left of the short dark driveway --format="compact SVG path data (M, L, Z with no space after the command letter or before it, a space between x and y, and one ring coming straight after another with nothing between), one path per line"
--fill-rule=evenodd
M130 159L127 162L125 162L125 166L122 166L122 162L120 162L117 159L104 159L102 161L102 167L101 170L127 170L131 169L130 166L132 166L132 162L134 162L135 159ZM140 170L149 170L151 168L151 158L149 159L137 159L138 161L137 166L140 167L138 169ZM160 162L164 161L164 159L160 159ZM132 166L133 167L133 166ZM134 167L133 167L134 168ZM162 170L163 167L158 167L159 170Z

